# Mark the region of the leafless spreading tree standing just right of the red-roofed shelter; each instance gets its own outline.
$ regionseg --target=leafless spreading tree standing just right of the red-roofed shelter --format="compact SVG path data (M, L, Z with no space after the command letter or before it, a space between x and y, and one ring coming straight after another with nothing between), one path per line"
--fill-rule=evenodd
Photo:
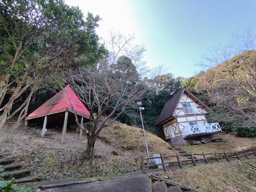
M128 107L134 106L134 101L139 100L153 84L150 78L141 80L138 71L147 68L141 61L145 49L144 46L133 46L133 39L133 36L126 38L112 33L108 42L112 48L109 57L97 67L70 71L67 78L91 115L90 127L79 124L76 116L78 127L87 133L88 156L93 155L95 141L106 122L114 122Z

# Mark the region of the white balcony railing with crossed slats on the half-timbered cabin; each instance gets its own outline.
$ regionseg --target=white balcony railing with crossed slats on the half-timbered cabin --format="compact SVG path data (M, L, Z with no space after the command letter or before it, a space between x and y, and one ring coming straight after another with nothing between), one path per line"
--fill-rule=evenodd
M181 129L183 137L186 137L189 135L196 135L200 133L213 133L218 131L221 131L219 123L191 125L188 127L183 127Z

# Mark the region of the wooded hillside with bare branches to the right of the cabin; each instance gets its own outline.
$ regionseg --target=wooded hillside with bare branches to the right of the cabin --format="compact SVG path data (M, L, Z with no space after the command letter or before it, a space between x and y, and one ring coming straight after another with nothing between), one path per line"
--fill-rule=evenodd
M212 51L210 56L204 56L199 64L210 68L186 79L182 84L214 110L208 116L209 121L220 122L223 130L234 132L237 136L255 137L255 36L245 35L238 37L237 44L230 44ZM232 56L237 50L241 53ZM227 60L220 62L221 59Z

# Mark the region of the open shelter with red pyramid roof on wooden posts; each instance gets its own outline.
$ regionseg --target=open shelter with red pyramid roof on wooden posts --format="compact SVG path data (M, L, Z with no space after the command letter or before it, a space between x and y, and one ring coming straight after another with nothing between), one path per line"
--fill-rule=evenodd
M81 121L81 123L88 122L90 117L89 111L68 85L29 114L25 119L25 125L28 124L28 121L34 123L44 122L42 136L44 136L47 123L48 126L50 125L51 127L62 125L62 142L64 143L67 126L76 124L72 105L78 120ZM80 140L82 140L82 130L80 130Z

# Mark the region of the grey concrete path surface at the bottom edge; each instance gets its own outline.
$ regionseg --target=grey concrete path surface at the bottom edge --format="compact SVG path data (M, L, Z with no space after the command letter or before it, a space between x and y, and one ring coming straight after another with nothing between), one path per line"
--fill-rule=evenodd
M49 188L51 192L148 192L151 182L147 175L124 177L95 181L86 184L76 184L63 187Z

